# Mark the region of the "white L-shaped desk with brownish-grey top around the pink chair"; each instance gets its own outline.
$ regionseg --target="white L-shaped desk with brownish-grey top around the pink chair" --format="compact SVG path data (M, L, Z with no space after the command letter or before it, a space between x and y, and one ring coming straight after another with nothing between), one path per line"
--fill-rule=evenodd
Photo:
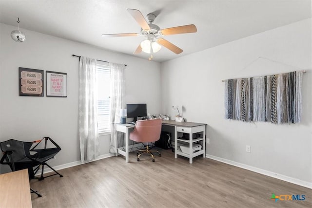
M188 157L190 160L190 163L193 163L193 158L195 156L198 156L200 154L203 155L203 157L205 157L206 155L206 124L202 124L202 123L194 123L194 122L176 122L176 121L166 121L163 120L162 121L162 125L166 125L166 126L173 126L175 128L175 158L177 158L177 155L181 155L184 157ZM125 151L122 150L123 148L117 148L117 153L123 155L126 157L126 163L129 162L129 135L130 132L133 131L133 129L135 128L134 124L116 124L116 130L117 132L123 132L125 133ZM189 140L181 140L177 138L177 132L186 132L190 134L190 139ZM203 132L203 138L198 138L198 139L193 139L193 133L196 132ZM197 151L193 153L193 143L197 142L197 141L203 141L202 142L202 150L201 151ZM183 153L182 151L180 151L178 149L178 142L181 143L188 143L189 144L189 149L190 152L187 153Z

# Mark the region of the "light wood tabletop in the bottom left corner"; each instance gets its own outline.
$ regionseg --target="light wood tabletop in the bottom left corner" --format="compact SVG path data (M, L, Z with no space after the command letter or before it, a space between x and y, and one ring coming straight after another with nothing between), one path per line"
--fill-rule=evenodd
M31 208L28 170L0 174L0 208Z

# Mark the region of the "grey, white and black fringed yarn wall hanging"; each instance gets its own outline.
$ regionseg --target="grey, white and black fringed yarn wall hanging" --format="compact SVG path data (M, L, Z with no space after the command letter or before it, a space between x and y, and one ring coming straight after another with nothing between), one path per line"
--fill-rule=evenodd
M303 72L224 80L225 118L300 123Z

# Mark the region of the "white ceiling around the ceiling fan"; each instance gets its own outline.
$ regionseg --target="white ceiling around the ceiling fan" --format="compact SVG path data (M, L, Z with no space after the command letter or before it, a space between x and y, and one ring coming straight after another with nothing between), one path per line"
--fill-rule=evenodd
M197 33L165 36L184 51L176 55L162 47L154 55L158 62L312 16L311 0L0 0L0 22L17 26L19 17L20 28L147 59L143 52L133 55L143 37L101 37L140 32L127 8L144 17L156 13L154 24L161 29L196 25Z

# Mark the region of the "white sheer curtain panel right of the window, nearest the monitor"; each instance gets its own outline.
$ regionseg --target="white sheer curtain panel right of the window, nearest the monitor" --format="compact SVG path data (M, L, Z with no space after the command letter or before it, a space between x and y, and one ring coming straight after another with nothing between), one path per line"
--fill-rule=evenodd
M125 109L125 77L123 64L110 63L111 71L111 142L109 152L117 153L118 134L116 124L120 122L120 109Z

